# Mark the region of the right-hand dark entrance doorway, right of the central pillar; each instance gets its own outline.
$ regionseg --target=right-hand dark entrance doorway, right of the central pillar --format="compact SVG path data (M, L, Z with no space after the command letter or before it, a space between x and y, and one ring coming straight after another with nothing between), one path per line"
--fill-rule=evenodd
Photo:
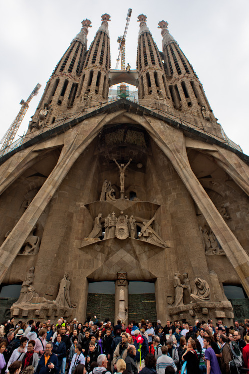
M129 282L129 321L139 322L141 319L157 321L155 283Z

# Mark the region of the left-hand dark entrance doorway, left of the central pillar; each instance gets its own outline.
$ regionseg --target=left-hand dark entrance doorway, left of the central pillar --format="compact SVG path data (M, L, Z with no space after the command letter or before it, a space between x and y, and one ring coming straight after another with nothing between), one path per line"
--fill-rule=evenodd
M86 317L99 321L109 318L114 323L115 282L89 282Z

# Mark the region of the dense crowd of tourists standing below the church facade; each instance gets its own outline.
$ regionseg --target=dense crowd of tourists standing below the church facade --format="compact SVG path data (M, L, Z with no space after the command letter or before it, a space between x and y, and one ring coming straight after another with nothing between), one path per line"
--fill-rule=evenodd
M129 322L88 317L0 325L0 374L249 373L249 319ZM248 370L247 370L248 369Z

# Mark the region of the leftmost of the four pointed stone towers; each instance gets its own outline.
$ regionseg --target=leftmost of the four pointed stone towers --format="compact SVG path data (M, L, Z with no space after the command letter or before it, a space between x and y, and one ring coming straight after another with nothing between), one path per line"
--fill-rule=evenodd
M57 116L73 106L82 75L87 49L89 19L84 19L80 32L71 41L48 80L39 105L29 123L29 131L53 123Z

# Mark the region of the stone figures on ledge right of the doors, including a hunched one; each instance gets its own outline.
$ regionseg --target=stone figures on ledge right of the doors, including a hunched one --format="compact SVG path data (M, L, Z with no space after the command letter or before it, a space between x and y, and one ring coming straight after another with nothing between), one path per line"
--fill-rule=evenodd
M195 301L209 301L210 287L207 281L201 278L195 278L195 289L192 293L190 280L187 273L183 274L183 284L180 280L180 273L174 274L175 298L172 307L184 306L183 292L186 290L191 298L191 303Z

